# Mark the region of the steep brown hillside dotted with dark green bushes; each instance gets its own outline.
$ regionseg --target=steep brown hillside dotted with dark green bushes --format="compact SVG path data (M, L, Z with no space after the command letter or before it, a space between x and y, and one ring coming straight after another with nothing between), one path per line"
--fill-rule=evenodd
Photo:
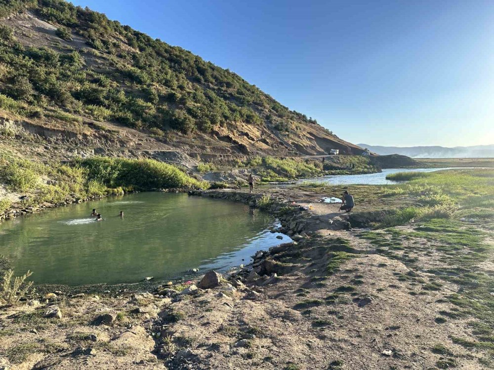
M0 113L1 139L34 155L362 152L238 74L62 0L0 0Z

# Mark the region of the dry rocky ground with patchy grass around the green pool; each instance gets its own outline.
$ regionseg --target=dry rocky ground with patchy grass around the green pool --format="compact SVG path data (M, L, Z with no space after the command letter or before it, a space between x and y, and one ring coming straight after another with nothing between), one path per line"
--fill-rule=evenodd
M298 209L282 224L296 228L297 242L256 253L253 265L210 289L198 278L197 289L7 307L2 352L14 369L492 368L493 174L465 171L427 184L352 186L357 206L345 216L317 202L345 186L203 191L278 213ZM449 214L403 218L450 200ZM355 227L388 216L401 223ZM45 317L55 306L61 318Z

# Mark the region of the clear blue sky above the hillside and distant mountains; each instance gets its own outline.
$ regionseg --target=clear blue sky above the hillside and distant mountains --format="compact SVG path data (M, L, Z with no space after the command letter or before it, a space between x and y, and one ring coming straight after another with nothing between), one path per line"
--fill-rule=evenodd
M493 0L74 0L353 143L494 144Z

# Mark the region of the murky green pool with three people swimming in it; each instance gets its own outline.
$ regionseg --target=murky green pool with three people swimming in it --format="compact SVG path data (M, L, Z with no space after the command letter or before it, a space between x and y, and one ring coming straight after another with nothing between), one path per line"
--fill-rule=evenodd
M90 218L92 208L105 220ZM191 268L248 263L255 251L282 242L276 239L280 234L268 231L275 224L270 215L241 203L138 193L3 222L0 255L17 274L33 271L40 284L170 279Z

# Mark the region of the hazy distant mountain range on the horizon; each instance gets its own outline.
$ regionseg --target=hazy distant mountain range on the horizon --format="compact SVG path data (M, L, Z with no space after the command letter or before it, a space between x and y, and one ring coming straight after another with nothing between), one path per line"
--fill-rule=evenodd
M358 144L380 155L402 154L412 158L494 158L494 145L476 145L472 147L382 147Z

